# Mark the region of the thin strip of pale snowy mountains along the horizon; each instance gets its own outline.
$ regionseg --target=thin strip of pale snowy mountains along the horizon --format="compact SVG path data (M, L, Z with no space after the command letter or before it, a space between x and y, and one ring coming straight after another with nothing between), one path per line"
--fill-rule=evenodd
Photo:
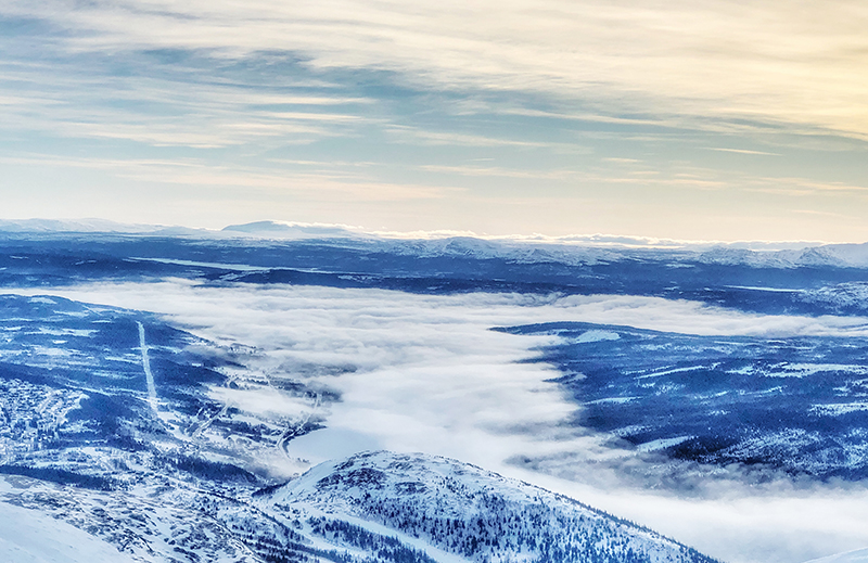
M111 233L192 239L253 241L328 241L333 245L361 245L368 249L419 257L470 257L508 259L521 264L600 264L643 259L674 264L699 263L753 268L800 267L868 268L868 243L817 242L703 242L618 235L510 235L477 236L455 231L378 232L331 223L254 221L221 230L187 227L125 225L104 219L0 220L0 233Z

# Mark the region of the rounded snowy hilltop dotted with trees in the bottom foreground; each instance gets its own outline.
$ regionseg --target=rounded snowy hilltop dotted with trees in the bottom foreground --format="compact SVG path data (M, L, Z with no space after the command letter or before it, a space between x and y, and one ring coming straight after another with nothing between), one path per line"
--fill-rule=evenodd
M572 499L421 453L366 452L326 462L264 506L277 513L309 506L334 519L361 519L480 563L713 561Z

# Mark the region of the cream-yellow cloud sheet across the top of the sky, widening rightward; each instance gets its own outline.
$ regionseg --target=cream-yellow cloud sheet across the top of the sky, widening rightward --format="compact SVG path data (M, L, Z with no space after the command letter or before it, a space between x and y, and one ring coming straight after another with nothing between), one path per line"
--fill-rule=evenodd
M64 29L55 42L75 52L204 51L226 61L292 53L315 69L579 99L615 117L868 137L859 73L868 15L856 0L799 10L735 1L55 0L8 2L4 12Z

